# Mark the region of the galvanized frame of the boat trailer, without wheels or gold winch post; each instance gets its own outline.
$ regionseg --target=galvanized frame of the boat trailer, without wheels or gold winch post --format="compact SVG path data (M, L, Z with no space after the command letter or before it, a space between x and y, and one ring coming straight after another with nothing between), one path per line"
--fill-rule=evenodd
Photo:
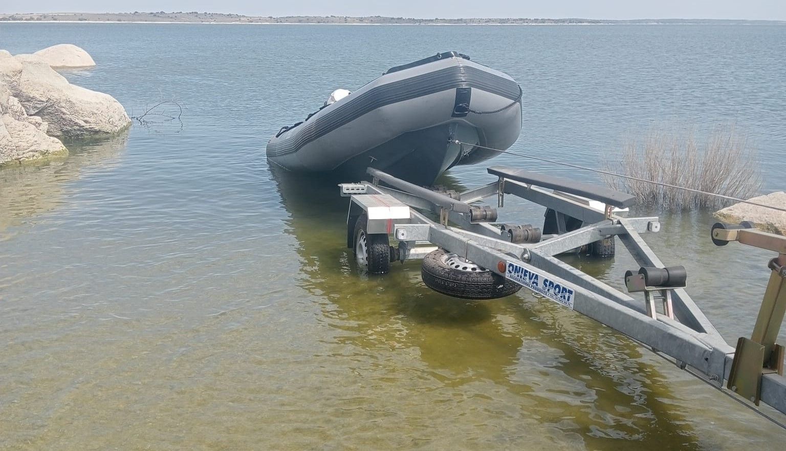
M661 288L663 310L656 311L649 297L652 293L642 302L556 258L598 240L618 237L639 265L663 268L663 262L641 237L642 233L659 232L657 217L627 218L627 207L635 199L612 189L509 167L490 167L488 172L498 180L448 195L369 168L372 181L340 185L342 196L351 198L347 245L353 246L351 231L365 212L369 233L387 233L399 242L391 253L395 259L422 259L436 247L444 248L614 328L725 391L735 348L726 343L685 288ZM496 209L479 204L496 197L497 207L504 207L505 196L556 211L559 233L544 235L538 242L513 242L510 233L494 226ZM439 217L439 222L421 211ZM578 219L582 226L566 230L565 218ZM765 370L755 375L758 393L740 392L745 402L758 405L761 400L786 414L782 368L781 361L781 374ZM729 389L737 391L736 387Z

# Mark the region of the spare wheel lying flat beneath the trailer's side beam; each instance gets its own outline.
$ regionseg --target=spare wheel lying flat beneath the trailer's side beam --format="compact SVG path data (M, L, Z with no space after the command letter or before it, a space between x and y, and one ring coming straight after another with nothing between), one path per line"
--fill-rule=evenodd
M504 298L521 289L521 285L445 249L437 249L423 258L421 277L435 292L462 299Z

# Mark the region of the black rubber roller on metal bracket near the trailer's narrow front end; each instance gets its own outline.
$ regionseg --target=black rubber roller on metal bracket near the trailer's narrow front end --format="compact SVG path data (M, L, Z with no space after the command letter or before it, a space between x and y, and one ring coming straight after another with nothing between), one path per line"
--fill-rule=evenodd
M675 288L685 288L688 273L685 266L668 266L655 268L642 266L637 273L633 270L625 272L625 286L628 292L644 292L647 316L658 319L656 299L663 302L663 314L674 319L674 309L671 306L671 292Z

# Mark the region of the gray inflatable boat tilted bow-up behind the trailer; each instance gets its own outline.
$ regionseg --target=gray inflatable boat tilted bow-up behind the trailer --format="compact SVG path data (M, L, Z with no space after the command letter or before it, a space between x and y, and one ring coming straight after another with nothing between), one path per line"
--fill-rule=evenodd
M417 185L432 185L457 164L505 150L521 132L521 88L509 75L438 53L397 66L325 106L267 143L270 162L296 172L335 171L367 178L375 167ZM472 143L459 145L454 141Z

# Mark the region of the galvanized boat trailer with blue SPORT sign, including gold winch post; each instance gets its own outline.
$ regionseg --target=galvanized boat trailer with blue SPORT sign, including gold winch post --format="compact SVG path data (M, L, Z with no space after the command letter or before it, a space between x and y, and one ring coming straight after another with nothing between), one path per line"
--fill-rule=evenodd
M351 197L347 246L365 250L355 242L362 229L369 238L383 239L377 244L387 244L391 235L399 242L398 248L389 248L391 261L423 259L443 248L479 270L488 269L506 282L514 281L614 328L720 390L726 382L725 387L746 402L763 401L786 414L784 347L775 343L786 310L786 237L746 223L716 224L712 229L715 244L736 240L778 254L769 262L772 275L751 339L740 338L735 350L685 292L681 266L664 268L641 239L641 233L659 231L658 218L625 217L634 197L509 167L490 167L488 172L498 180L457 193L426 189L369 168L373 181L340 185L342 196ZM529 225L495 224L496 208L479 202L497 197L498 207L503 207L506 195L547 207L545 227L552 230L542 234ZM439 217L439 222L421 211ZM358 218L364 223L358 224ZM593 243L608 244L610 237L618 237L641 266L628 271L625 282L628 292L644 292L645 302L555 257Z

